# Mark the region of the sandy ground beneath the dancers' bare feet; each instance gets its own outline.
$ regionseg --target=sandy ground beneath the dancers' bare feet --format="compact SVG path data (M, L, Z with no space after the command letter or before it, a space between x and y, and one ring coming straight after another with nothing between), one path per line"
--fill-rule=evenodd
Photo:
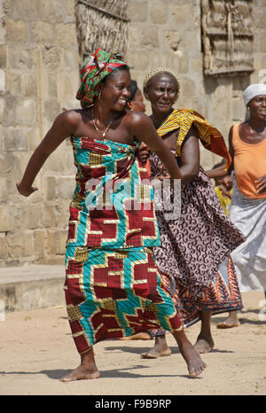
M153 340L106 340L95 347L100 378L59 381L79 364L66 308L5 314L0 321L1 395L262 395L266 394L266 306L262 292L243 294L241 326L218 330L225 315L213 316L215 349L202 358L207 370L188 378L175 341L169 357L143 360ZM261 307L259 307L261 304ZM195 342L200 324L186 330Z

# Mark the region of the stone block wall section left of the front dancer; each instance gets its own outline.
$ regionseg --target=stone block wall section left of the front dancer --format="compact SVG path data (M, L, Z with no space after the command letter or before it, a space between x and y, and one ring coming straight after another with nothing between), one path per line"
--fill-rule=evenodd
M15 183L56 115L77 105L74 1L8 0L0 10L0 266L62 263L74 189L70 144L51 155L32 196L20 197Z

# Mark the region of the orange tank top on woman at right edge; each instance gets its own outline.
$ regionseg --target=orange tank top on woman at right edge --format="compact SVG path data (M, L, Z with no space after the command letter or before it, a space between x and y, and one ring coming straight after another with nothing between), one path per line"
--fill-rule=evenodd
M266 137L259 144L246 144L239 136L239 125L234 125L232 145L234 170L239 191L248 198L266 198L266 191L257 194L255 181L266 175Z

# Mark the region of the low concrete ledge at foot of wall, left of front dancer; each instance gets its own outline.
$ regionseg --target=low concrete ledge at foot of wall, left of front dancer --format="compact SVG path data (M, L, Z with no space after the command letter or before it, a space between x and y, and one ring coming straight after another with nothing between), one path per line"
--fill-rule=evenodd
M65 305L65 268L29 265L0 269L0 300L5 311Z

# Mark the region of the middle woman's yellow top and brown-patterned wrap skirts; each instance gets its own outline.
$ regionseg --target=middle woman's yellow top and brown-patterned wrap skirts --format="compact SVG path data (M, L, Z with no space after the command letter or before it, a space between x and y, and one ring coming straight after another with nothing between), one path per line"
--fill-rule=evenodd
M220 132L192 110L176 110L158 129L159 135L179 129L176 161L184 139L192 126L199 131L200 142L212 152L230 155ZM150 154L152 178L161 174L161 162ZM169 197L173 197L170 194ZM157 210L161 245L154 247L156 264L163 284L171 292L184 327L200 320L200 311L223 313L243 308L238 277L231 252L245 240L221 207L211 180L200 167L199 175L181 185L181 210L176 220L166 219L168 211ZM153 331L160 335L163 331Z

